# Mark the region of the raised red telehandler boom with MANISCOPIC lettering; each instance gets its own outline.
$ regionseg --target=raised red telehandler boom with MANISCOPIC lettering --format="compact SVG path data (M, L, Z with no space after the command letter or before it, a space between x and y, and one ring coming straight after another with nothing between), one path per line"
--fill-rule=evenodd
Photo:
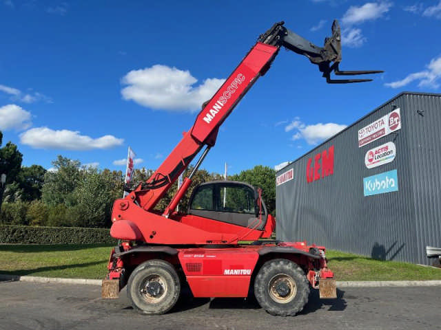
M144 210L152 210L174 181L187 168L204 144L214 145L219 126L232 112L236 104L264 74L274 60L278 47L256 43L234 72L225 80L216 94L198 114L189 132L172 153L147 180L146 187L136 189L137 201ZM130 194L126 198L132 199Z

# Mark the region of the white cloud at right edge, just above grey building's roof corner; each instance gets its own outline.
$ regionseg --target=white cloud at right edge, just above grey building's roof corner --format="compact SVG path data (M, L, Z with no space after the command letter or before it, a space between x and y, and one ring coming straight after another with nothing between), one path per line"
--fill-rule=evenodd
M438 58L432 58L432 60L428 65L426 65L426 67L427 69L425 70L409 74L402 80L396 80L392 83L386 83L384 84L384 86L391 88L400 88L409 85L409 83L412 83L415 80L419 80L418 87L429 87L437 89L438 87L440 87L441 56L438 56Z

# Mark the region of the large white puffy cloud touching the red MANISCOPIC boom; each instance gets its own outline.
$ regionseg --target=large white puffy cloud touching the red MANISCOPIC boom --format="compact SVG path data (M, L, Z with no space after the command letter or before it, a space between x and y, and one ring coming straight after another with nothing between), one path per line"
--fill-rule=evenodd
M207 78L194 86L198 80L189 71L153 65L132 70L123 79L121 90L124 100L168 111L198 111L203 102L212 98L225 79Z

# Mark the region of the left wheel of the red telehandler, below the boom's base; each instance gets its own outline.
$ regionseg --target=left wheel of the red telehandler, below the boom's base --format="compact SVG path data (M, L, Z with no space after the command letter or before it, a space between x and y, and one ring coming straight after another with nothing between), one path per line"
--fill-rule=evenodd
M150 260L132 272L127 283L127 296L141 314L164 314L178 301L181 292L179 276L171 263Z

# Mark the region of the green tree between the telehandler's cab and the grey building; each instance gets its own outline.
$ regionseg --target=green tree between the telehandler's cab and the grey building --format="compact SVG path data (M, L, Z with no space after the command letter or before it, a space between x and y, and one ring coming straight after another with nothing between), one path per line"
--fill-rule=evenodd
M262 188L262 197L265 200L268 212L276 211L276 171L269 166L257 165L250 170L243 170L239 174L231 175L229 179L247 182L255 187Z

